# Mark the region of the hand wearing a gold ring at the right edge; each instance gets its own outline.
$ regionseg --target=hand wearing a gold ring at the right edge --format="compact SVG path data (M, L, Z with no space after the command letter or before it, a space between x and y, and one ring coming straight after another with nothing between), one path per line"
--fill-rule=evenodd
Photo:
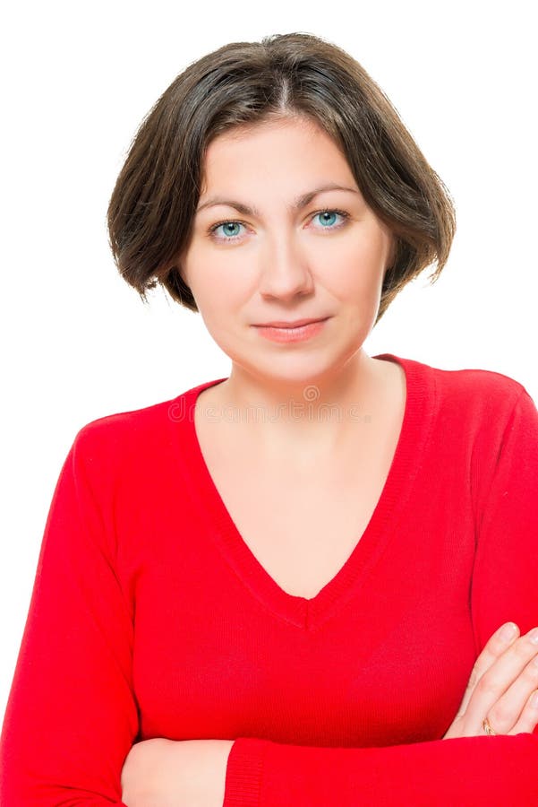
M476 659L464 699L443 740L483 736L486 717L495 733L532 733L538 723L537 688L538 629L520 637L517 625L507 622Z

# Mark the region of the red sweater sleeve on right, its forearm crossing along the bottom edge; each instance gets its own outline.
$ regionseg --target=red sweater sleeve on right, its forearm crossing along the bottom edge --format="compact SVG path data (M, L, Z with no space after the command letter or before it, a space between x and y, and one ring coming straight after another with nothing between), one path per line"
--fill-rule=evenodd
M476 520L471 592L476 645L503 621L538 625L538 412L517 397ZM442 626L441 626L442 629ZM538 803L538 732L371 748L235 740L224 807L383 807Z

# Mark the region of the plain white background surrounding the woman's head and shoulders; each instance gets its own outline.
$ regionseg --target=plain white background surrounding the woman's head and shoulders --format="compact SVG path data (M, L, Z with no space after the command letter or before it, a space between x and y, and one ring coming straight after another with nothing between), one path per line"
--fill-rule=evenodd
M226 42L298 30L345 48L457 206L440 280L426 270L408 286L366 351L496 370L538 401L533 5L21 0L4 12L0 716L77 430L228 375L201 317L164 291L144 307L109 252L107 202L142 117Z

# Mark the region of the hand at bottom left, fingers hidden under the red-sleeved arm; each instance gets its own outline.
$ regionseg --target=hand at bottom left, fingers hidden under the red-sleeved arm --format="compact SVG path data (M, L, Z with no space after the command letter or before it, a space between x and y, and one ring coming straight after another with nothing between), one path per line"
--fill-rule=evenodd
M137 742L122 768L128 807L222 807L233 740Z

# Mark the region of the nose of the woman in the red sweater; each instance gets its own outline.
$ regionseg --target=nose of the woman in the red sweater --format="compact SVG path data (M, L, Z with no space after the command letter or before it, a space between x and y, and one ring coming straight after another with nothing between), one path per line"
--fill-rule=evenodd
M304 250L291 235L268 239L262 256L260 293L264 297L292 299L312 291L312 273Z

